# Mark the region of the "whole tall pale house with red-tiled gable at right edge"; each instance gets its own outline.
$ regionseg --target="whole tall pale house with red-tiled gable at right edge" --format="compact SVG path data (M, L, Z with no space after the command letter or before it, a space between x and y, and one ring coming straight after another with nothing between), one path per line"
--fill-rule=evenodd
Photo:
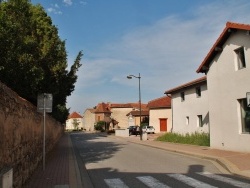
M228 22L197 72L207 75L211 147L250 152L250 25Z

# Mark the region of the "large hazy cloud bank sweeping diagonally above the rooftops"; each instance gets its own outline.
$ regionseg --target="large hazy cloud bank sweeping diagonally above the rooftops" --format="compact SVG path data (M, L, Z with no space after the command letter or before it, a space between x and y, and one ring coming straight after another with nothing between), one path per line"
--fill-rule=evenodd
M101 101L135 102L138 81L126 76L141 73L142 101L147 102L163 96L167 89L203 76L195 71L226 22L249 23L249 8L248 1L216 1L187 10L187 18L169 15L134 28L97 47L91 58L83 58L72 98L81 95L87 99L76 104L81 111Z

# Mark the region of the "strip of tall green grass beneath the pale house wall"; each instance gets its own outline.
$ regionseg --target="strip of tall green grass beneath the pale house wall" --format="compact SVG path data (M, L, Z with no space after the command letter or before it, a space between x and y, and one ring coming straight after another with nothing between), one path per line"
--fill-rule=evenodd
M156 140L163 142L174 142L181 144L192 144L198 146L210 146L210 137L208 133L192 133L192 134L178 134L178 133L166 133Z

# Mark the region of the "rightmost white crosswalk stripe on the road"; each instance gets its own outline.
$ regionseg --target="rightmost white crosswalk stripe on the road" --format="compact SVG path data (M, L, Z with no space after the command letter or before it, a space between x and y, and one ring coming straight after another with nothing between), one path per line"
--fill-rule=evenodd
M225 183L228 183L230 185L233 185L235 187L241 187L241 188L250 188L250 184L249 183L244 183L244 182L240 182L238 180L234 180L232 178L228 178L228 177L224 177L218 174L212 174L210 172L199 172L197 174L215 179L215 180L219 180Z

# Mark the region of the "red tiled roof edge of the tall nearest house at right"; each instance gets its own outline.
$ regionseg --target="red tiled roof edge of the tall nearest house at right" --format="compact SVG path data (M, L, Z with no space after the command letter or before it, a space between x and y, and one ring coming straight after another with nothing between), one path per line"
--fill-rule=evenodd
M227 41L227 39L230 37L232 31L234 31L234 30L250 31L250 25L227 22L225 29L222 31L219 38L216 40L216 42L214 43L214 45L210 49L209 53L207 54L205 59L202 61L199 68L196 70L197 73L207 72L210 62L213 60L215 55L218 53L217 49L222 48L223 44Z

